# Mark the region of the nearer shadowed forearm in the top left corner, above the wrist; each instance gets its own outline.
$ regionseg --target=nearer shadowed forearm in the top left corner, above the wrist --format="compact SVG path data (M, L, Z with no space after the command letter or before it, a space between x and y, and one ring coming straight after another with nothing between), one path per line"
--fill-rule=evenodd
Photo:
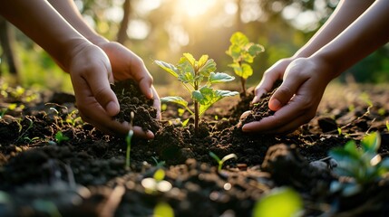
M44 48L65 71L71 53L88 42L46 1L2 1L0 14Z

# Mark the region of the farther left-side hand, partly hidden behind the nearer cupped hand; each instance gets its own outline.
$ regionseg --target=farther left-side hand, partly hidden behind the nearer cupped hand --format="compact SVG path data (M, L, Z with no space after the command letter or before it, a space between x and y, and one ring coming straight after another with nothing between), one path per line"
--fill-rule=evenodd
M160 119L160 97L141 58L118 42L100 42L97 45L111 61L114 80L132 79L138 82L143 94L148 99L154 99L153 107L157 109L157 119Z

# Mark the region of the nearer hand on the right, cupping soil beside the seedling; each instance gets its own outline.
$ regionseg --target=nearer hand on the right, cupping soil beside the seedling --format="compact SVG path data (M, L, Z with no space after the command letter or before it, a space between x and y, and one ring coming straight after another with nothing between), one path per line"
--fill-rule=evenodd
M258 85L256 93L269 90L272 80L277 80L285 61L280 62L267 72L267 77ZM270 98L268 107L275 110L273 116L248 123L242 127L245 132L288 133L307 123L316 115L326 85L333 79L330 64L314 59L291 61L283 76L283 83ZM245 114L244 114L245 115Z

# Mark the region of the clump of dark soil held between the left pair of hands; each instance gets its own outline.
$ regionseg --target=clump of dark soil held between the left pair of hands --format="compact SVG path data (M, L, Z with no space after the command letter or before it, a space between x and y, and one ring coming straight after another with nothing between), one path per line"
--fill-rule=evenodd
M151 130L155 133L160 128L157 117L157 109L153 108L153 100L147 99L141 92L138 84L133 80L122 80L111 85L113 92L119 100L121 111L115 117L119 122L127 121L133 126L139 126L143 130ZM134 113L133 120L131 112Z

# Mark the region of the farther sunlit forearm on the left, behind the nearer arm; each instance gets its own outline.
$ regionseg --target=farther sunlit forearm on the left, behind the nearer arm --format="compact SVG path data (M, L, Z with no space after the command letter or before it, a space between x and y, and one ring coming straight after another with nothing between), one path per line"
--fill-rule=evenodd
M94 44L100 42L107 42L100 34L96 33L88 24L83 20L82 14L78 11L73 0L48 0L53 5L55 10L63 16L63 18L73 26L79 33Z

